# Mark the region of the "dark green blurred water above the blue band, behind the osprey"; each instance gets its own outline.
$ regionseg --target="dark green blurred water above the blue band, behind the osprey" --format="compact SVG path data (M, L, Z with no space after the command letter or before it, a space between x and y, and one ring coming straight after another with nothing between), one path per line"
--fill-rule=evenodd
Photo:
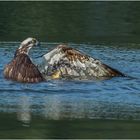
M139 42L140 2L0 2L0 40Z

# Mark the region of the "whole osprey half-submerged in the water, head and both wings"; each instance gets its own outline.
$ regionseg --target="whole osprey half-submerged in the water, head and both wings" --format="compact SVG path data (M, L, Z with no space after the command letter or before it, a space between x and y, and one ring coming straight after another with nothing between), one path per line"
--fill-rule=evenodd
M4 68L4 77L26 83L41 82L45 79L108 79L125 76L118 70L66 45L59 45L43 56L38 67L28 56L37 40L28 38L16 50L12 61Z

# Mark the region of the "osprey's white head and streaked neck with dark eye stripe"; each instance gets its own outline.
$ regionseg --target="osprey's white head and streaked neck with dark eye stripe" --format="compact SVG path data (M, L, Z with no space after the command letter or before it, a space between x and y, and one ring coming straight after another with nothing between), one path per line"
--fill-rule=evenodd
M15 56L18 54L27 54L29 53L29 50L34 47L38 46L39 42L32 37L29 37L21 42L20 47L16 50Z

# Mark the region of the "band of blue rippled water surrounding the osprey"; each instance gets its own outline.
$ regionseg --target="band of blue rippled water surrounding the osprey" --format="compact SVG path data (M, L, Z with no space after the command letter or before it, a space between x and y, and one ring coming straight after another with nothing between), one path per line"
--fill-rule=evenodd
M31 50L36 62L59 43L41 43ZM3 67L13 57L18 42L0 43L0 114L15 114L28 125L34 116L45 120L140 120L140 44L72 44L131 77L109 80L52 80L22 84L3 77ZM7 116L7 115L5 115ZM7 131L5 131L7 132ZM14 137L16 138L16 137Z

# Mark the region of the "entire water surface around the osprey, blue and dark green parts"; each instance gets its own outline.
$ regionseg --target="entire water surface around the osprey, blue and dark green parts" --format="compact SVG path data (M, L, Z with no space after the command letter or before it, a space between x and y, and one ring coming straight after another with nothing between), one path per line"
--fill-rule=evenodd
M140 2L0 2L0 138L140 138ZM32 59L67 43L133 77L7 81L20 41Z

